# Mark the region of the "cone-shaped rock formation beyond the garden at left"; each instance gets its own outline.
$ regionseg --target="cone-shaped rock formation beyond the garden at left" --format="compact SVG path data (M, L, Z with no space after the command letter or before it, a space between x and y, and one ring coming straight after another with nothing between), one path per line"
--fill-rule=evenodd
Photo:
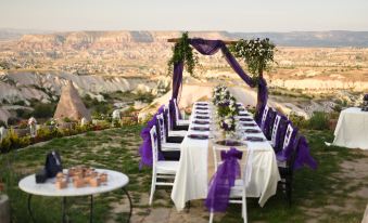
M53 116L56 120L69 118L72 120L80 120L86 118L91 121L91 115L83 103L78 91L74 88L71 80L63 87L56 112Z

